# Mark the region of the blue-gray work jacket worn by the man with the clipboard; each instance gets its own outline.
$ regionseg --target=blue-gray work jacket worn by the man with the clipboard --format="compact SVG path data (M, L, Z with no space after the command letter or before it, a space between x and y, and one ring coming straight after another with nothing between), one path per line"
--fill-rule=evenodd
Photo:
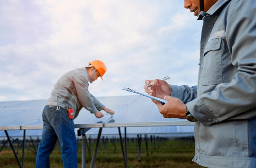
M256 165L256 1L218 0L203 18L197 86L171 85L198 120L193 161Z

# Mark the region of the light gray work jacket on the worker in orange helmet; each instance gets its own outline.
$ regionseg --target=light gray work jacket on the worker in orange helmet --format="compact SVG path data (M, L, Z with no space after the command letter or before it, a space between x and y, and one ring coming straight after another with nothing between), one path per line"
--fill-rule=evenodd
M72 108L75 118L82 107L96 113L105 107L89 93L90 77L86 68L79 68L65 73L54 85L46 105L56 105L65 109Z

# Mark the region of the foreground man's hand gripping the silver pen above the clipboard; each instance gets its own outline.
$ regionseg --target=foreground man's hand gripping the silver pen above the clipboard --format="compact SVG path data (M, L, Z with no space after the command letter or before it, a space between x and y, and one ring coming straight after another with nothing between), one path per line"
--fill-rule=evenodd
M172 88L165 80L146 80L145 83L144 89L148 95L163 99L165 96L170 96L172 93ZM152 86L146 88L149 84Z

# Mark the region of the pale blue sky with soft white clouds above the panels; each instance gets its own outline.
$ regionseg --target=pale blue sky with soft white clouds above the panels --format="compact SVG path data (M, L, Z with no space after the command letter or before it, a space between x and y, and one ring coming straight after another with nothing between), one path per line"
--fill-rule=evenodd
M147 79L196 85L202 21L182 0L0 1L0 102L48 99L66 72L102 60L94 96Z

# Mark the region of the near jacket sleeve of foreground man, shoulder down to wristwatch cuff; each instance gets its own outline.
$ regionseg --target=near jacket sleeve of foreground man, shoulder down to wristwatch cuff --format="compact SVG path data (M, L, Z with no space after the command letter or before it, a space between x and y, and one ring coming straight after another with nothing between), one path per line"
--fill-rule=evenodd
M213 91L187 104L191 114L203 125L256 115L255 11L252 0L238 1L229 8L225 37L231 63L237 71L229 83L218 84Z

